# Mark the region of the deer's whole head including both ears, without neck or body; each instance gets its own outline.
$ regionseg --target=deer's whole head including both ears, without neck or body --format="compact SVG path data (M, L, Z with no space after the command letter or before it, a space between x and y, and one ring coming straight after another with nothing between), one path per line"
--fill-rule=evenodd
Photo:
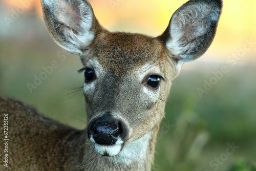
M154 136L172 79L210 46L222 1L187 2L155 38L105 30L84 0L42 0L42 7L53 39L84 65L88 138L99 154L115 156Z

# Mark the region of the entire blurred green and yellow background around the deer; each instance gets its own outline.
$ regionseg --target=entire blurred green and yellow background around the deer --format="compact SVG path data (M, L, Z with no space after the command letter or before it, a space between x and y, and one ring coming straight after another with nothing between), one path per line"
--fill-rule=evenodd
M186 1L89 2L105 28L157 36ZM40 1L2 0L0 18L0 95L83 129L82 65L51 39ZM255 32L256 1L224 0L211 47L173 81L153 170L256 170Z

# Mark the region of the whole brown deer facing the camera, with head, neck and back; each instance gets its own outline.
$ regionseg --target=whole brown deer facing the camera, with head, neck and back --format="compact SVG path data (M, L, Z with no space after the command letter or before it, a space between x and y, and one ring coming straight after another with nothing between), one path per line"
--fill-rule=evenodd
M1 97L1 125L8 123L9 143L8 165L0 169L151 170L172 81L183 63L211 45L222 1L186 2L157 37L108 31L86 0L41 4L53 40L78 53L83 64L87 127L77 130ZM0 153L1 160L6 154Z

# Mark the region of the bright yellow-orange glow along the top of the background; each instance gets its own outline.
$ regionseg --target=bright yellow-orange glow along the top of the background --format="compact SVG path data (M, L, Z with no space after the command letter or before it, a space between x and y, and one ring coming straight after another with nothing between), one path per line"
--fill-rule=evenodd
M139 32L157 36L168 25L172 14L186 1L175 0L89 0L99 22L111 31ZM19 0L5 0L17 7ZM40 1L31 4L41 14ZM29 9L27 9L29 10ZM242 48L245 39L256 41L256 1L224 0L218 31L209 51L211 55L229 55ZM255 54L256 48L248 52Z

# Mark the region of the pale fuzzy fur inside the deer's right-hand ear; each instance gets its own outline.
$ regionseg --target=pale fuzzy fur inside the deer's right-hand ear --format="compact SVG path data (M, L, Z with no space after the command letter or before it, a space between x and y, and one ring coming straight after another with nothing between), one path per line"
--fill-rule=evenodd
M209 29L206 17L210 15L211 6L204 3L187 5L178 10L170 21L170 36L166 47L174 54L179 55L184 61L187 54L197 49L200 40L197 37L204 35ZM218 20L218 14L211 14L211 19ZM209 22L209 21L208 21Z

